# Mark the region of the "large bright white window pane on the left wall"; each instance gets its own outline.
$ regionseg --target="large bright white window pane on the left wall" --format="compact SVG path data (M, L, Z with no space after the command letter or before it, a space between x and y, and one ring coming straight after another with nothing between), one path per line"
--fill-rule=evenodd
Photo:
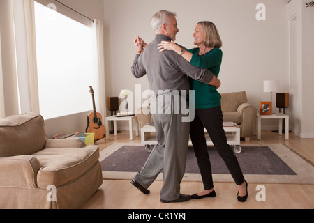
M40 114L45 119L92 109L91 27L35 2Z

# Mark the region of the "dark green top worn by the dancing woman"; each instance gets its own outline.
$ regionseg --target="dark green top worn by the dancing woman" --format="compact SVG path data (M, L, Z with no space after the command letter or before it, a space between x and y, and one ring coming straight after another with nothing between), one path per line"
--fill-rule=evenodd
M223 61L223 52L219 48L211 49L204 55L199 55L200 49L190 49L193 54L190 64L198 68L207 68L218 77ZM215 86L190 79L192 90L195 91L195 109L210 109L221 105L221 95Z

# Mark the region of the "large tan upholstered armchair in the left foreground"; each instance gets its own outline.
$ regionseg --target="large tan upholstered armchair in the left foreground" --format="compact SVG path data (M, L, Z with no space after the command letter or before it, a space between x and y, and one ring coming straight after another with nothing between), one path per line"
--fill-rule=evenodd
M81 139L46 139L39 114L0 118L0 208L80 208L103 184L98 159Z

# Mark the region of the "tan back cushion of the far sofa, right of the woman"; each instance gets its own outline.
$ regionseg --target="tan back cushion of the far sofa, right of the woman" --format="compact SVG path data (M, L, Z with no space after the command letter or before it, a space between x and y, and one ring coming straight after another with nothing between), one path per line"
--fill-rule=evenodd
M232 92L221 94L221 109L223 112L237 112L239 105L248 102L246 92Z

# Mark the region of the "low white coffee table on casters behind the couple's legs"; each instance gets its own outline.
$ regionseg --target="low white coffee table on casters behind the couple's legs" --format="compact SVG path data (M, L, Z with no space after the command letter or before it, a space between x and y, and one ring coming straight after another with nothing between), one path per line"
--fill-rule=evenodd
M225 127L225 134L227 136L227 143L233 147L234 153L241 153L242 148L240 146L240 128L238 125L235 125L233 128ZM207 130L204 128L204 132ZM209 134L205 134L207 146L214 145L209 137ZM152 148L157 144L156 139L156 129L155 126L151 123L145 125L141 129L141 144L145 145L145 150L149 153ZM189 140L188 145L192 146L192 142Z

